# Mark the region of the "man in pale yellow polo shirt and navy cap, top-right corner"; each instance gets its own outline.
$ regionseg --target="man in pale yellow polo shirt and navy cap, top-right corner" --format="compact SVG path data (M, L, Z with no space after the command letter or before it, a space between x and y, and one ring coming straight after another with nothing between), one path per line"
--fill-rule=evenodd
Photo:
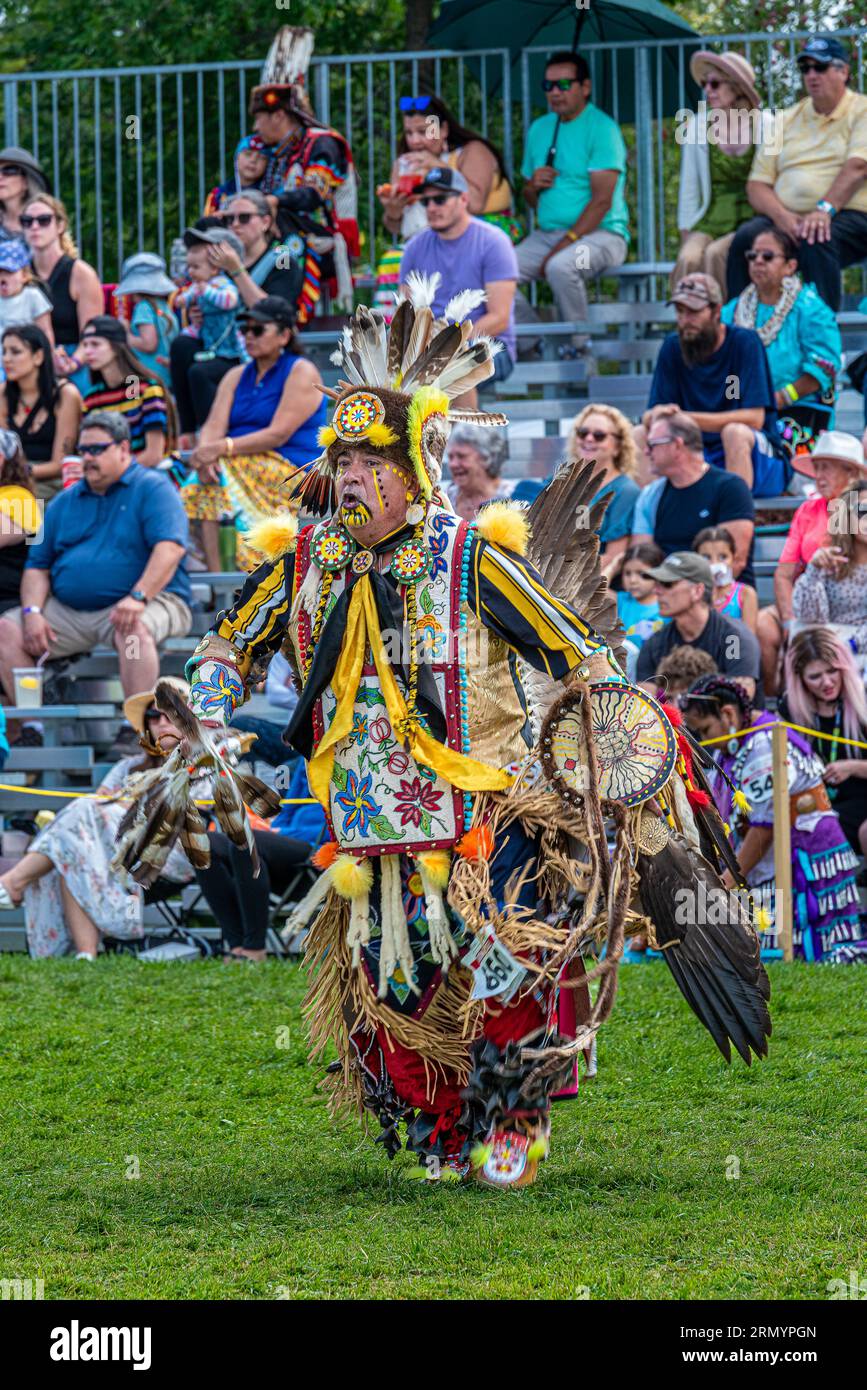
M799 268L836 313L841 271L867 259L867 96L849 88L849 54L816 35L798 54L806 96L777 113L759 149L746 195L757 217L738 228L728 257L728 293L749 285L745 253L777 225L800 247Z

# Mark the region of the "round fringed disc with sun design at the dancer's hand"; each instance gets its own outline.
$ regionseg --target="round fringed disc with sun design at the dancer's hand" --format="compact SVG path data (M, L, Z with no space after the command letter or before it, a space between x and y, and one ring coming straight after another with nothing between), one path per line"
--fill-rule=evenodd
M591 691L591 728L599 770L599 795L638 806L660 791L677 762L677 738L657 702L627 681L599 681ZM567 692L542 724L542 763L565 801L586 791L589 758L584 695Z

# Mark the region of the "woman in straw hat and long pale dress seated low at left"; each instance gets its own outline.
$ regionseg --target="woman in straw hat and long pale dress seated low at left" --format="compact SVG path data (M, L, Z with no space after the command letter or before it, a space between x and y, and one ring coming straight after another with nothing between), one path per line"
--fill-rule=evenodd
M188 698L186 681L164 678ZM179 731L156 708L153 691L131 695L124 714L139 735L143 752L114 763L96 796L64 802L50 826L31 841L28 852L0 876L0 910L24 903L32 956L63 956L75 951L78 960L96 960L103 935L121 941L144 935L142 915L149 898L158 899L178 884L192 883L192 865L179 847L171 851L147 894L135 884L121 883L111 866L126 802L108 798L125 788L135 774L158 767L181 741Z

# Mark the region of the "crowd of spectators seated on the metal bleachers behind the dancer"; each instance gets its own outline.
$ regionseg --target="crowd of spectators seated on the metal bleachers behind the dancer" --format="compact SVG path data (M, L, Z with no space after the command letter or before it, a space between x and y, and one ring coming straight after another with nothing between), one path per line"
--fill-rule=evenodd
M841 863L841 845L867 852L867 432L856 438L835 418L842 274L867 261L867 96L834 35L810 38L796 65L800 100L754 121L743 120L763 117L750 63L693 54L704 108L682 138L675 327L641 418L596 391L568 424L564 455L602 470L599 542L629 676L678 703L700 735L729 735L724 770L756 784L770 755L750 721L775 705L800 728L792 794L816 796L793 826L813 865L829 847ZM474 335L499 350L495 377L456 402L470 411L514 373L515 325L538 321L546 302L571 329L561 357L592 367L588 284L629 253L627 146L593 101L588 64L552 54L542 89L547 111L525 133L520 199L496 145L434 95L400 99L399 149L377 188L392 243L374 291L385 316L410 275L431 277L435 313L461 291L482 292ZM700 131L710 118L713 138ZM304 328L324 296L352 303L347 139L318 121L303 74L254 88L250 120L232 178L183 231L171 274L140 250L114 286L81 257L39 161L0 152L0 685L11 705L14 669L113 646L129 716L117 752L128 758L139 738L151 760L176 741L157 728L151 692L161 644L190 631L190 567L222 569L228 521L236 564L251 569L246 532L285 506L288 478L318 453L322 378ZM446 495L461 517L539 491L540 480L503 475L506 455L503 432L453 430ZM788 528L766 605L756 502L777 506ZM11 733L25 745L39 738L33 723ZM101 844L106 817L81 815L67 833ZM735 835L757 888L770 881L761 815ZM110 901L104 855L86 888L92 910L79 898L76 912L63 876L51 878L51 847L64 842L44 834L29 863L1 876L0 906L32 894L32 948L71 942L93 955L97 903ZM295 838L260 848L279 881L304 858ZM846 866L835 885L843 926L820 913L817 933L800 935L807 958L857 927ZM175 865L175 878L182 872ZM258 908L245 908L245 873L217 844L203 891L229 903L229 949L258 959L261 885ZM46 905L57 903L67 929L46 935Z

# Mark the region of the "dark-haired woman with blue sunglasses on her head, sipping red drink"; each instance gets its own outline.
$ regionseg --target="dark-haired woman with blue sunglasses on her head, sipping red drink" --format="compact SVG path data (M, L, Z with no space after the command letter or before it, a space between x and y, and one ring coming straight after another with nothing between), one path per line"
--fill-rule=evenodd
M461 125L438 96L400 97L400 117L397 158L389 182L377 190L386 231L407 240L428 225L413 189L432 168L446 167L460 170L467 179L471 214L500 227L513 242L520 240L524 231L511 215L511 188L496 146Z

